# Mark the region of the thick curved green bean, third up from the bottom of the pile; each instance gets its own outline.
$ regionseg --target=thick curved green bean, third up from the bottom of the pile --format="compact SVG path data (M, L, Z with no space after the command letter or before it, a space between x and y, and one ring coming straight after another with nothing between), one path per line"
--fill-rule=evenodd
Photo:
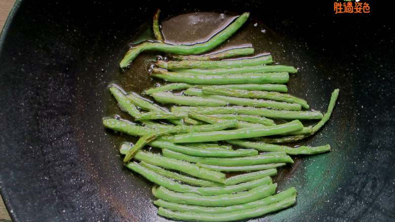
M216 196L202 196L197 194L176 193L164 187L153 187L153 196L165 201L199 206L230 206L249 203L265 198L275 192L277 184L263 185L247 192L236 194L221 194Z

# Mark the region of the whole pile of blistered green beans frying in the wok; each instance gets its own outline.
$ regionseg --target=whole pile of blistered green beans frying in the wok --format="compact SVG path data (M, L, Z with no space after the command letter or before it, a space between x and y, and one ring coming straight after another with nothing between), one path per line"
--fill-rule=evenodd
M339 90L325 114L309 110L306 100L287 94L286 83L297 68L272 64L270 53L254 55L251 45L213 52L249 13L206 42L171 45L162 36L160 12L153 16L156 40L134 45L120 66L128 67L144 51L166 53L149 70L166 83L142 96L111 84L120 112L129 116L102 119L105 128L127 140L120 147L125 167L154 184L157 213L181 221L235 221L295 204L296 189L276 192L270 176L293 164L292 155L322 154L331 146L280 143L319 131L333 113ZM138 139L132 143L130 137Z

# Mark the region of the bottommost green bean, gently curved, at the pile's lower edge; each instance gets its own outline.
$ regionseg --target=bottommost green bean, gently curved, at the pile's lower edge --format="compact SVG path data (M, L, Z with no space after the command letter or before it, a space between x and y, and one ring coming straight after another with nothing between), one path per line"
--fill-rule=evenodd
M265 206L251 208L247 210L233 211L221 214L206 214L206 213L192 213L192 212L176 212L160 207L157 213L161 216L181 220L181 221L205 221L205 222L219 222L219 221L241 221L252 217L266 215L271 212L279 211L294 205L296 202L296 195L290 198L281 200L277 203L272 203Z

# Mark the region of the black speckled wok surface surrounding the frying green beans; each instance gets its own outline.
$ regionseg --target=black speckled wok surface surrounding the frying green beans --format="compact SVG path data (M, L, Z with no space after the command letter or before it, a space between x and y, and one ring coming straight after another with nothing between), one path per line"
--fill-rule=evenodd
M282 169L279 190L296 186L297 205L254 221L395 218L394 27L383 3L369 1L370 15L334 15L331 1L132 2L25 1L14 9L1 38L0 188L15 221L166 220L151 184L122 166L120 140L101 124L112 80L129 79L128 90L151 84L117 64L155 8L164 20L249 11L249 25L277 33L267 37L274 59L301 69L291 93L325 111L340 88L331 121L303 142L333 151Z

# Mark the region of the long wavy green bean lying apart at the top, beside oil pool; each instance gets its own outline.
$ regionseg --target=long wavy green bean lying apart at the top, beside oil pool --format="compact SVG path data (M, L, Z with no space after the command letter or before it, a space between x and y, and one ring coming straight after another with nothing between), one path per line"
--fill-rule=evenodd
M208 52L219 46L222 42L228 39L234 32L236 32L248 19L250 13L243 13L236 18L225 29L218 32L210 40L194 45L170 45L163 42L143 42L131 48L122 59L121 68L127 67L141 52L144 51L160 51L165 53L177 55L198 55Z

